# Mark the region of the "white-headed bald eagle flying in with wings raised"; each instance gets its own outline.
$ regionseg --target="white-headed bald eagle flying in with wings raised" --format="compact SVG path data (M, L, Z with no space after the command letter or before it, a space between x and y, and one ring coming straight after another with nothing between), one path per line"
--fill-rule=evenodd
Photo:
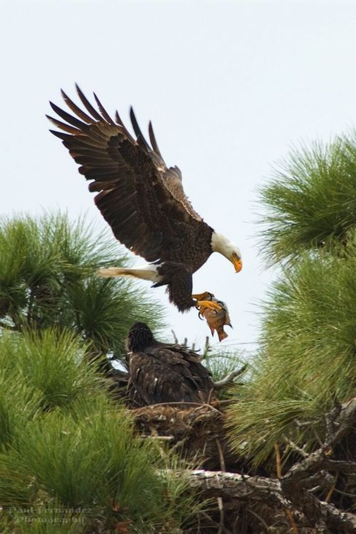
M62 130L51 132L80 165L80 174L91 180L89 191L98 193L94 201L116 239L149 263L133 269L111 267L99 273L151 280L153 287L167 285L169 300L179 311L193 306L220 309L216 302L192 295L192 274L212 252L223 254L239 272L239 248L196 213L184 193L180 170L168 168L162 158L151 122L150 146L132 108L136 139L117 112L115 120L108 115L95 93L98 109L78 86L76 89L85 111L62 91L73 115L50 103L62 119L47 115Z

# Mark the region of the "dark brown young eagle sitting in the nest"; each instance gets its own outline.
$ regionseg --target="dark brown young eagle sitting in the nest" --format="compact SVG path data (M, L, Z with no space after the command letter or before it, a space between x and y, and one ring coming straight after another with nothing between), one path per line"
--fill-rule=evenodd
M163 402L207 403L214 384L196 352L155 341L145 323L135 323L126 338L130 397L139 406Z

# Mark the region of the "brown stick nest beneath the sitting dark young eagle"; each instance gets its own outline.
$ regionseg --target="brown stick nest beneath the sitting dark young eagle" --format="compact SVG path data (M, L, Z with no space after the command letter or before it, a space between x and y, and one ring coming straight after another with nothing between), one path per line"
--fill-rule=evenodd
M231 387L234 379L246 368L247 364L214 382L215 393ZM204 469L245 467L238 466L241 459L228 446L224 406L230 400L217 400L214 397L205 404L171 402L137 407L137 403L132 402L128 394L129 374L113 370L110 374L111 389L116 398L123 401L130 410L140 436L167 442L170 449Z

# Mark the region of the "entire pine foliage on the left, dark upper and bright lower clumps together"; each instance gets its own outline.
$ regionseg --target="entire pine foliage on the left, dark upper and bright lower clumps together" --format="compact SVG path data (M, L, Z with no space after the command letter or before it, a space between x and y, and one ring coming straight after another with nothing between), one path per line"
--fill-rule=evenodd
M136 435L95 354L121 357L136 320L159 305L128 281L96 277L128 262L66 215L0 224L1 532L180 532L196 512L175 456Z

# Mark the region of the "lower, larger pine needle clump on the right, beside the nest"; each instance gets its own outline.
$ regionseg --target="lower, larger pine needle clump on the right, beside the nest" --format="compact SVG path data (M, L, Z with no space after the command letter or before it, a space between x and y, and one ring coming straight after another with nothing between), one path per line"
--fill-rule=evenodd
M276 440L306 439L296 421L318 420L335 398L356 394L356 257L301 258L264 311L260 355L231 410L234 446L248 444L256 462Z

